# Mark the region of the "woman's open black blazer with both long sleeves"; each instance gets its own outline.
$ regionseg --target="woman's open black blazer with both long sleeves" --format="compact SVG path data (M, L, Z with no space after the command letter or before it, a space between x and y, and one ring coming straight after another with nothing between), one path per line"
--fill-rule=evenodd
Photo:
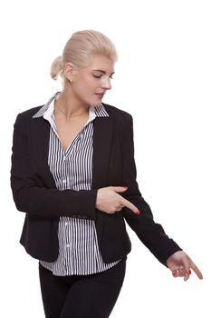
M166 265L168 256L181 250L153 220L149 204L139 192L134 161L132 116L103 104L109 117L94 119L91 190L57 190L48 166L50 124L43 117L33 118L41 108L18 114L14 124L11 186L14 203L25 214L20 243L27 253L46 262L57 259L60 216L95 221L98 243L105 263L130 252L125 222L139 236L158 261ZM128 208L115 214L96 209L97 190L109 185L128 185L120 194L135 204L139 215Z

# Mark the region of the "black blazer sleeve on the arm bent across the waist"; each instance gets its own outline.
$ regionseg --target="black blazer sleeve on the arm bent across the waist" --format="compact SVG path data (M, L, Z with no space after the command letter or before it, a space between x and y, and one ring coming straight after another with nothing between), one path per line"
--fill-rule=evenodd
M28 117L18 114L14 123L10 180L17 210L42 216L95 220L97 189L61 191L37 184L30 168L28 121Z

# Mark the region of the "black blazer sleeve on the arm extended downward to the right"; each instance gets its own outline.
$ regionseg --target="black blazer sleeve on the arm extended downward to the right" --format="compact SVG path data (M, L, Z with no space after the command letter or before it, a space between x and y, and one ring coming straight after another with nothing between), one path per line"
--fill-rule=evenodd
M125 126L122 131L122 175L123 184L128 185L129 188L123 196L137 206L140 214L134 214L127 207L124 207L122 212L130 228L139 236L141 242L154 254L160 263L166 265L168 257L172 253L181 251L181 248L168 237L160 224L154 222L149 204L139 192L139 185L136 181L137 170L134 159L132 116L128 114L125 120Z

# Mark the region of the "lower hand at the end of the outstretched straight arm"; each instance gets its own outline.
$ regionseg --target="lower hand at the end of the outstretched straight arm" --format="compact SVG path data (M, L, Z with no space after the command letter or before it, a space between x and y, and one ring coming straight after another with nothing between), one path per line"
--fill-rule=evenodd
M183 251L178 251L168 257L167 265L174 277L184 277L185 282L191 273L190 269L197 273L198 278L203 279L202 273L197 268L197 265L190 259L187 253Z

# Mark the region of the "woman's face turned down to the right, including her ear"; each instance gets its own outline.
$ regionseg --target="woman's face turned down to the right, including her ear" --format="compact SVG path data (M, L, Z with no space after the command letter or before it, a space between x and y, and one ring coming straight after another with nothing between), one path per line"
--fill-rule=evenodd
M68 65L66 66L68 70ZM85 105L98 106L107 90L111 89L111 78L114 74L114 64L110 58L96 55L91 59L91 64L75 70L70 64L67 78L72 79L72 93L74 97Z

